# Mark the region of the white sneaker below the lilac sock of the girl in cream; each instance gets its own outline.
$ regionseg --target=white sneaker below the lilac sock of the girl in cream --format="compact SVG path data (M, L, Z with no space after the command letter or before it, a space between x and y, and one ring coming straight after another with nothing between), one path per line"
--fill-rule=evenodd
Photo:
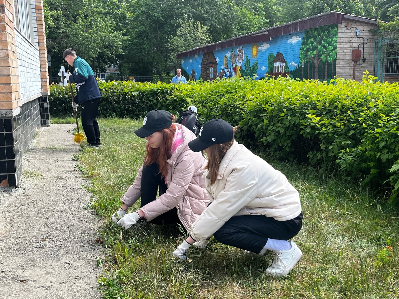
M292 268L298 263L302 257L302 251L292 241L290 250L275 251L273 260L271 261L269 268L266 269L268 275L281 277L290 273Z

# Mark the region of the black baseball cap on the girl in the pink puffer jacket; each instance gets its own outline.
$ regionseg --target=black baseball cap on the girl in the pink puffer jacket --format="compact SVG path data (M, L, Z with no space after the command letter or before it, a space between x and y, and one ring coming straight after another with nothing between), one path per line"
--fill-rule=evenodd
M151 110L143 120L143 126L134 131L140 138L146 138L156 131L172 126L172 114L165 110Z

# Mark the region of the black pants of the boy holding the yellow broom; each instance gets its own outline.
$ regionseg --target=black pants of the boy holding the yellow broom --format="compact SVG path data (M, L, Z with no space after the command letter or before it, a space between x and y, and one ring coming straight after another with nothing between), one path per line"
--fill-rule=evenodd
M101 98L87 100L82 103L82 127L85 131L87 143L93 146L100 142L100 129L97 122L97 114Z

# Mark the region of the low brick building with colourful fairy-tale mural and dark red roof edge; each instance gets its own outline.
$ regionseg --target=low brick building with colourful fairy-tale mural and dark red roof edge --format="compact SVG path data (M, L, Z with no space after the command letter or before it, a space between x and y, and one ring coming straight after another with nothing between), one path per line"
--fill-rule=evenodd
M399 59L386 59L377 51L381 41L373 29L378 29L377 20L326 12L190 49L176 57L182 59L182 69L194 69L196 78L203 80L215 78L209 75L212 65L219 77L229 73L255 79L284 75L330 81L337 76L361 81L369 71L385 81L399 81L399 66L391 65L399 64Z

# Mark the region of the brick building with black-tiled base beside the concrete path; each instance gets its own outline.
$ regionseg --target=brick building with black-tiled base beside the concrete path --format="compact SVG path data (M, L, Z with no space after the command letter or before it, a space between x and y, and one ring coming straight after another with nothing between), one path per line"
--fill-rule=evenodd
M49 126L42 0L0 0L0 187L16 187L22 154Z

